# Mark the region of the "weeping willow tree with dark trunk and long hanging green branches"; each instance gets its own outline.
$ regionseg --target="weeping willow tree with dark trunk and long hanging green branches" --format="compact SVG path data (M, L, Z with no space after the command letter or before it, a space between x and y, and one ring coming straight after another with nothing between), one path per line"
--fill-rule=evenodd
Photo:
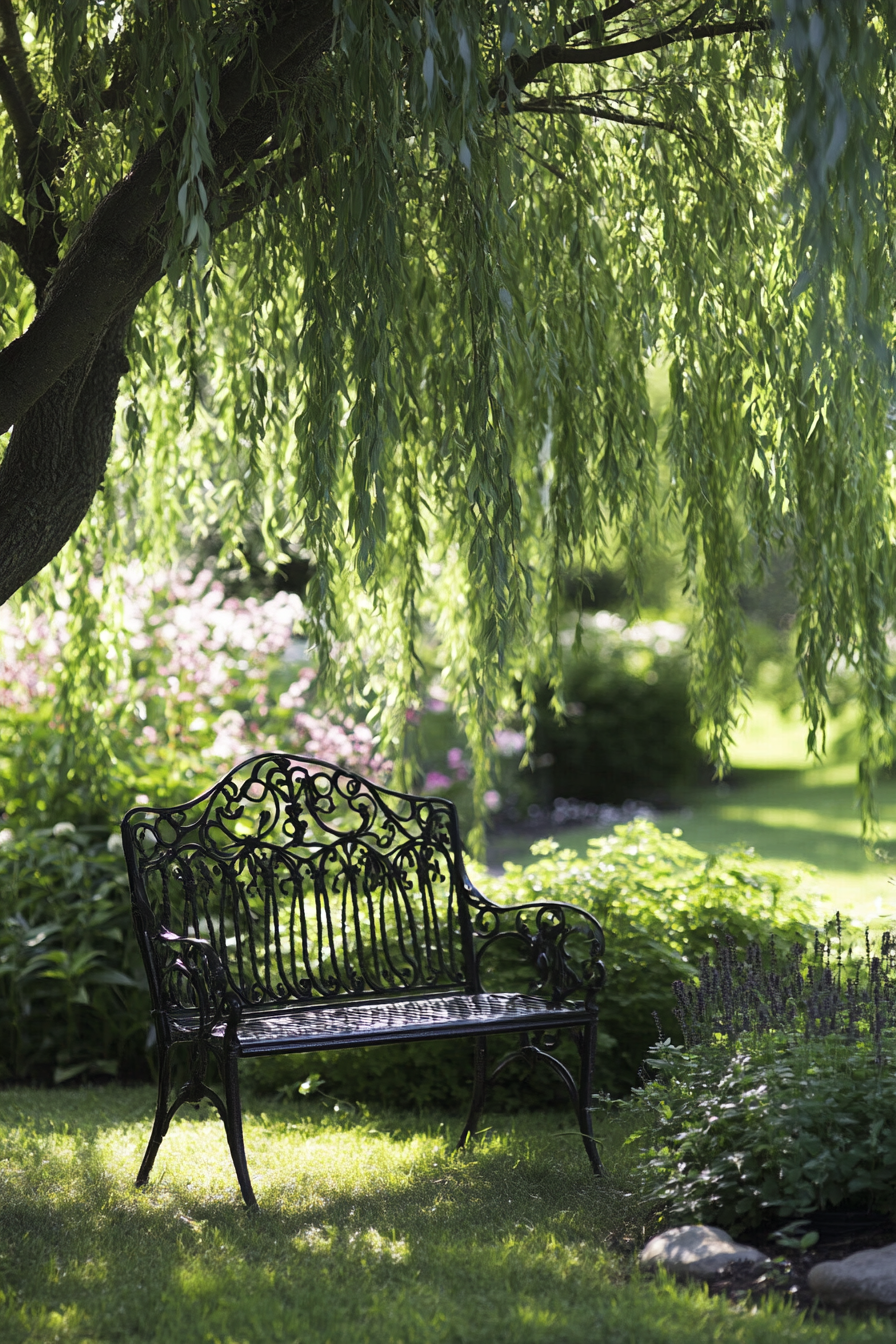
M399 745L435 632L481 793L564 577L621 550L637 593L668 509L716 759L776 550L810 745L845 660L888 757L896 4L0 0L0 601L67 583L85 698L86 575L251 524Z

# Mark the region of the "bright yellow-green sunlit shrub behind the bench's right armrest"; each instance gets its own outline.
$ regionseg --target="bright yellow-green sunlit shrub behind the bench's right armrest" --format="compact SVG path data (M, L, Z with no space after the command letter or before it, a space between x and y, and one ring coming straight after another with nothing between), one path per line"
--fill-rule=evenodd
M673 981L697 974L700 958L725 929L747 941L770 929L809 941L814 905L801 890L805 874L782 878L751 852L700 853L647 821L615 827L588 841L580 859L556 841L540 841L528 868L505 864L484 879L496 899L568 900L598 917L607 937L607 986L600 996L604 1039L598 1087L621 1093L638 1078L656 1042L654 1013L676 1031Z

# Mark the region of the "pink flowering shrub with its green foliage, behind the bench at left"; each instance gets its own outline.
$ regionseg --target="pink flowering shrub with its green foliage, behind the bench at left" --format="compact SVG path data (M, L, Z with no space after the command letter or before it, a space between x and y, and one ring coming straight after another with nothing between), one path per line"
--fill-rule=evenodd
M95 777L63 750L70 726L55 698L67 613L26 625L0 612L0 820L35 824L51 812L54 821L83 821L136 801L175 801L266 750L322 757L384 781L391 762L371 728L316 707L314 672L296 657L301 617L301 601L287 593L240 599L207 569L144 578L132 566L125 671L90 707L105 732L105 770Z

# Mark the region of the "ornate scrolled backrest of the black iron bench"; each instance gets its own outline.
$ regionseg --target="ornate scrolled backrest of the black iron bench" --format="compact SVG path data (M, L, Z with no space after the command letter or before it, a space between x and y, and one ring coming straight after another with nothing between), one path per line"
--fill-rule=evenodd
M246 1005L473 989L454 805L273 753L122 839L159 1008L191 1007L160 929L207 939ZM177 988L180 985L180 988Z

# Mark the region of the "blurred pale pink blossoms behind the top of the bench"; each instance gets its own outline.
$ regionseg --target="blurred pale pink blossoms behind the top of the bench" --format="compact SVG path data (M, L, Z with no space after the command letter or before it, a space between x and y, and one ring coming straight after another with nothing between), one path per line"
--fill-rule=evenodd
M297 597L227 598L208 569L195 577L185 570L145 575L132 563L124 581L125 640L138 675L114 673L107 712L141 702L132 731L154 759L187 766L187 742L207 761L227 763L281 747L388 778L392 763L367 723L312 711L313 668L297 668L271 703L269 677L294 644L302 616ZM102 587L94 589L101 597ZM52 696L66 638L66 610L26 628L9 607L0 609L0 715L31 714ZM255 719L247 724L250 708Z

